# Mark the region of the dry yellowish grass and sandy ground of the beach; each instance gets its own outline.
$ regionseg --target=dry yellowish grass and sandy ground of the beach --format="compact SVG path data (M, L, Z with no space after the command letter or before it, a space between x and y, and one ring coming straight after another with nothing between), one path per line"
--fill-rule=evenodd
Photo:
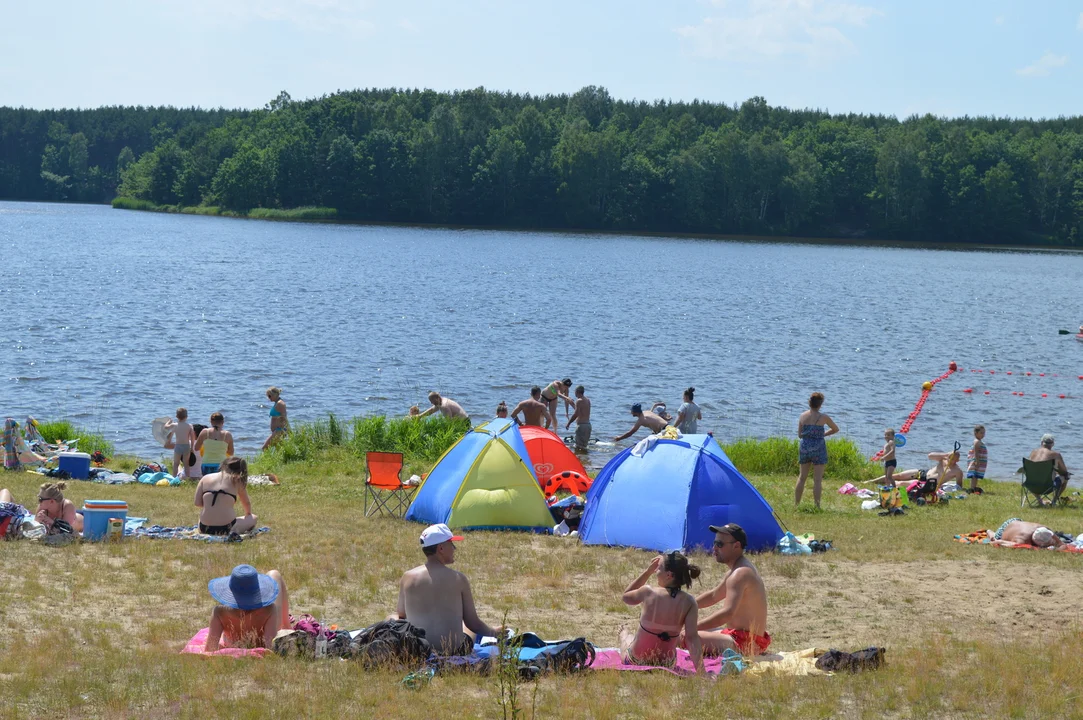
M419 526L362 518L363 482L343 460L290 466L280 487L251 488L273 532L239 545L126 541L0 545L0 717L501 716L493 678L439 676L405 690L402 672L347 662L182 656L207 624L207 580L240 562L280 570L296 612L362 627L394 606L395 581L418 562ZM40 477L0 483L31 498ZM879 518L834 493L824 512L794 512L793 479L756 479L783 521L838 550L756 559L769 588L775 647L886 645L875 675L725 678L615 672L546 678L538 717L1078 717L1083 557L951 541L1012 514L1083 531L1078 510L1019 512L1015 489ZM119 497L161 524L195 521L192 487L71 483L76 502ZM648 553L524 534L471 534L458 567L482 616L507 613L544 637L616 643L635 612L619 592ZM705 579L721 568L701 557ZM526 693L529 695L529 692ZM526 703L529 706L529 702Z

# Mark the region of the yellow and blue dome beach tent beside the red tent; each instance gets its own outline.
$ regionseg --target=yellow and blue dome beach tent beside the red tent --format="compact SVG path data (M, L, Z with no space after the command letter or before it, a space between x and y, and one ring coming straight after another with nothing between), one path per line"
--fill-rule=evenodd
M552 514L519 426L497 418L464 435L421 483L406 520L462 529L548 532Z

